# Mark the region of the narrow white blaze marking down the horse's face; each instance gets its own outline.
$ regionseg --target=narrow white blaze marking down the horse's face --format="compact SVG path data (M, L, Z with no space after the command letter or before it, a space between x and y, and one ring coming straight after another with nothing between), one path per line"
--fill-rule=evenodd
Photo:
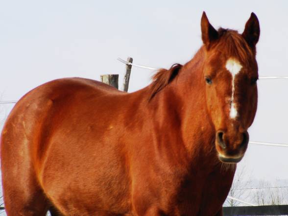
M237 107L234 102L234 91L235 91L235 76L241 71L242 65L234 58L229 58L226 62L226 69L232 74L232 96L231 96L231 107L230 107L230 118L235 119L238 115Z

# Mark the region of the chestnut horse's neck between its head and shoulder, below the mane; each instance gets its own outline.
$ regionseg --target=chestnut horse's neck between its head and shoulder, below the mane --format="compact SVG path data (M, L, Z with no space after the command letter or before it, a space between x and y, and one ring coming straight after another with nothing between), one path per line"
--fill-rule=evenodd
M158 139L173 151L185 151L178 155L186 155L187 160L193 161L203 160L203 155L214 159L206 156L215 153L202 80L204 58L205 50L200 48L176 78L157 93L150 107L157 137L161 137Z

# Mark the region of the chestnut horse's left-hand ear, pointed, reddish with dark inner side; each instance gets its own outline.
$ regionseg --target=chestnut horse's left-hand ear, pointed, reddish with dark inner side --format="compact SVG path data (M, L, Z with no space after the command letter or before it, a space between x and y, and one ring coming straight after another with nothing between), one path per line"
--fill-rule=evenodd
M206 48L209 48L211 43L216 39L218 39L218 32L209 23L205 11L203 11L201 18L201 32L202 32L202 41L205 44Z

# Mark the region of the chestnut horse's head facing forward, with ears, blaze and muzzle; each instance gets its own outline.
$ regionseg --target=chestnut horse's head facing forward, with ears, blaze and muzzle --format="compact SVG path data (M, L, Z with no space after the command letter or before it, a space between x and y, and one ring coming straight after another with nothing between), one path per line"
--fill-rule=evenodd
M255 46L259 22L252 13L242 34L216 30L203 12L201 31L205 49L203 82L208 116L216 131L216 151L221 162L237 163L246 151L247 129L257 109Z

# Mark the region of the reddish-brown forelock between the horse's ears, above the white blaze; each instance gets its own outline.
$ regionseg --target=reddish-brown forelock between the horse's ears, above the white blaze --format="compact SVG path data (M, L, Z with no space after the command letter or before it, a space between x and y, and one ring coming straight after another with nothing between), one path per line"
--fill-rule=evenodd
M245 39L237 31L231 29L218 29L219 40L216 49L225 56L237 57L242 63L249 64L249 61L256 53L249 47Z

